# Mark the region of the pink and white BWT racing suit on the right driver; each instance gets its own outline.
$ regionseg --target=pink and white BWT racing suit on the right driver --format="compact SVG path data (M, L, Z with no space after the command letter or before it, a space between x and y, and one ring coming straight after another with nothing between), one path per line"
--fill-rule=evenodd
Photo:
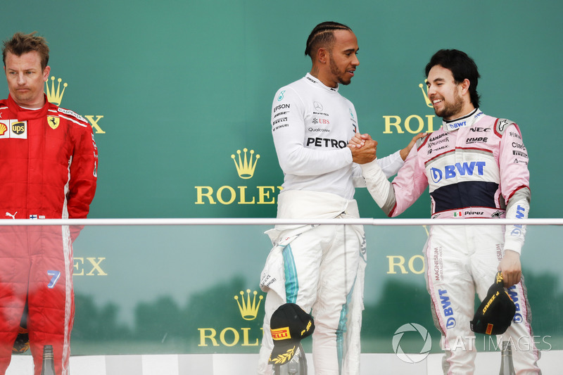
M526 218L528 155L519 127L474 110L413 147L390 184L375 163L362 166L374 200L390 217L414 203L429 186L432 218ZM472 374L476 350L469 321L475 288L483 300L504 251L520 253L525 228L433 226L426 243L426 282L436 327L442 333L444 373ZM512 338L517 374L536 374L531 312L522 282L508 288L517 312L504 334ZM475 287L474 287L475 285Z

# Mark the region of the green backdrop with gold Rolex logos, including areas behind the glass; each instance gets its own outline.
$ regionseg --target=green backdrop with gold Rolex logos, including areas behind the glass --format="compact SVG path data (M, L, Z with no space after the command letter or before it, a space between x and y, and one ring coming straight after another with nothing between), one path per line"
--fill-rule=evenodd
M341 94L355 104L360 131L379 141L378 155L438 129L424 66L438 49L461 49L479 66L483 112L521 128L531 217L560 217L562 11L559 1L32 0L2 5L0 37L46 37L49 99L91 123L99 147L91 218L275 217L283 174L272 99L310 70L305 41L324 20L358 37L360 66ZM8 95L5 80L0 92ZM362 217L384 217L367 191L357 198ZM429 198L403 217L429 217ZM235 229L84 229L75 243L74 352L257 352L258 277L270 244L267 228ZM431 329L426 234L367 234L362 346L390 352L401 324ZM543 303L536 329L558 335L559 349L560 236L531 231L522 261L531 303Z

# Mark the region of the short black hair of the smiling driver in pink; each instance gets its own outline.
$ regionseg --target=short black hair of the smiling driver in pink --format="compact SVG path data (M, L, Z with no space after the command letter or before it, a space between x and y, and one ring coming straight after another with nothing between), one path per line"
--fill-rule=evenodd
M479 108L479 99L481 96L477 94L477 84L479 83L479 70L472 58L467 53L458 51L457 49L441 49L434 53L430 58L430 62L426 64L426 77L435 65L440 65L452 71L455 83L459 84L466 78L469 80L469 98L475 108Z

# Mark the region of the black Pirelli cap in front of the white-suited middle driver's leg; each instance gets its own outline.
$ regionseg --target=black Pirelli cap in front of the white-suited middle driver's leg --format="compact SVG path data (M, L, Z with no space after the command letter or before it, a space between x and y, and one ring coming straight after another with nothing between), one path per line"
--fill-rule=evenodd
M295 303L285 303L272 314L270 331L274 350L268 363L284 364L296 354L301 339L315 331L315 322L310 314Z

